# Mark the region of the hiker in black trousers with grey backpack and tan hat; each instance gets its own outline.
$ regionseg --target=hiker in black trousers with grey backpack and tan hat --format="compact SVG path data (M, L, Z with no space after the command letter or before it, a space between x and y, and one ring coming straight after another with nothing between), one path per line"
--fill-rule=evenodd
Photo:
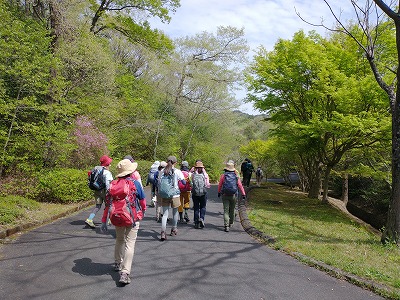
M196 161L194 170L191 173L190 181L192 185L194 228L204 228L207 206L207 189L210 188L210 181L201 160Z

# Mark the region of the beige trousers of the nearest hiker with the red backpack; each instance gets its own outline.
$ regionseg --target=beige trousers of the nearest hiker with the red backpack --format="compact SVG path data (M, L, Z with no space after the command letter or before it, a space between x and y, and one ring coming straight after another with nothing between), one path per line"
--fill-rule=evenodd
M135 252L135 243L137 232L139 230L139 222L136 226L119 227L115 226L117 235L114 249L114 259L116 263L121 264L121 272L130 274L132 268L133 254Z

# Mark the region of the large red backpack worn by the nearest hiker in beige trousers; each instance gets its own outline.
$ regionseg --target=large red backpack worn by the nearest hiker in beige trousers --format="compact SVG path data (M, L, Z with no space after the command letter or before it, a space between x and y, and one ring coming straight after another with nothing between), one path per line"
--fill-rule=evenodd
M143 212L137 199L136 186L132 179L118 178L111 181L109 194L111 204L109 218L114 226L134 226L143 219Z

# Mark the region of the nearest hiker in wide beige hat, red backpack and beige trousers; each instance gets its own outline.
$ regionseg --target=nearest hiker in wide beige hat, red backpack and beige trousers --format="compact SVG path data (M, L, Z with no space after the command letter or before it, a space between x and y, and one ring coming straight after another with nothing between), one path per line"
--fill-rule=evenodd
M117 179L110 184L106 208L101 219L101 230L107 232L108 219L115 226L114 270L120 272L119 282L131 282L134 245L139 221L146 212L146 198L142 185L134 178L136 162L121 160L117 165Z

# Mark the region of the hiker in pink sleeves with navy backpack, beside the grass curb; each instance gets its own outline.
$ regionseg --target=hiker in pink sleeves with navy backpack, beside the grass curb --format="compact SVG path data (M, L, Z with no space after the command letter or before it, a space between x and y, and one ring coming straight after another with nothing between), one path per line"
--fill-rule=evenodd
M218 198L222 196L224 206L225 232L229 232L229 228L234 224L236 198L239 191L245 199L246 192L235 169L235 164L230 160L226 163L224 173L221 175L218 184Z

